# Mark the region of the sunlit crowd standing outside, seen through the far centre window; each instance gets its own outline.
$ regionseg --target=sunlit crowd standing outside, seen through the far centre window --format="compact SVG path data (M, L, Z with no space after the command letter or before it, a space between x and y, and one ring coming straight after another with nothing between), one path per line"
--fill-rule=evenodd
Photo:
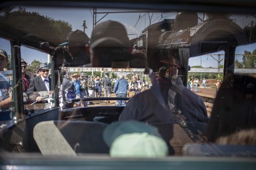
M76 93L76 99L80 99L79 102L74 103L76 107L94 104L92 101L94 97L111 97L111 93L114 93L116 97L132 97L150 88L150 83L143 82L139 74L134 75L131 80L121 74L118 75L118 78L111 78L107 72L104 77L85 75L84 73L70 75L66 73L64 77L74 85L74 89L72 86L66 86L67 91L71 89ZM92 100L83 100L86 98ZM105 100L105 103L109 104L110 101ZM116 106L125 106L126 100L117 100L115 104ZM69 107L73 106L69 105Z

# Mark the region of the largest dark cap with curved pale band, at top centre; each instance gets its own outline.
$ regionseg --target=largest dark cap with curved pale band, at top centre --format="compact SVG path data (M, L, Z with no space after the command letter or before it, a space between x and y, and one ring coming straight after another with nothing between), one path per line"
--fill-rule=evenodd
M125 27L117 21L104 21L95 26L90 40L90 48L130 48Z

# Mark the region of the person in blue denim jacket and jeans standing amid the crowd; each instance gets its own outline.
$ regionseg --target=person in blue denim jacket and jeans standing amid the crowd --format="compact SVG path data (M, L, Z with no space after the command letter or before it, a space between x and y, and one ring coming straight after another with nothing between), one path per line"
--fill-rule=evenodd
M125 79L125 75L119 75L119 79L116 80L113 93L116 97L127 97L128 81ZM125 100L118 100L118 106L126 106Z

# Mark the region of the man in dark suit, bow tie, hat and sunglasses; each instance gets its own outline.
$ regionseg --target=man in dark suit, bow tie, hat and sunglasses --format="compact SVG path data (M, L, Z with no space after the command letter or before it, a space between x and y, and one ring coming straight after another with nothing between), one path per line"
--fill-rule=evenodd
M47 64L40 64L40 68L38 68L40 75L31 79L29 89L27 89L29 99L41 102L45 96L51 95L51 78L48 77L49 69Z

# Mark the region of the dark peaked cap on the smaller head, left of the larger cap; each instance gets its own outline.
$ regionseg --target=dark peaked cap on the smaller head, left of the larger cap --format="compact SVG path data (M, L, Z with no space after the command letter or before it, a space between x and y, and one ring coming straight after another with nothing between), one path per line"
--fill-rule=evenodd
M88 44L90 41L90 38L81 30L71 31L69 32L69 35L67 36L67 42L64 42L60 44L62 45L69 45L70 44L76 44L76 46L84 46Z

